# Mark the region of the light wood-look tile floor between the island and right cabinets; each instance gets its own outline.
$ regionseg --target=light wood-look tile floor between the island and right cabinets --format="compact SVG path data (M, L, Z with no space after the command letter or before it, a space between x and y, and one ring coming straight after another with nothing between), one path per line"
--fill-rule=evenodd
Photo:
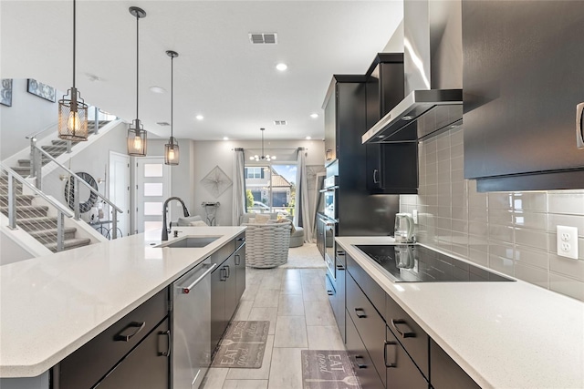
M233 320L269 320L260 369L211 368L203 389L301 389L302 350L344 350L328 303L325 269L246 269Z

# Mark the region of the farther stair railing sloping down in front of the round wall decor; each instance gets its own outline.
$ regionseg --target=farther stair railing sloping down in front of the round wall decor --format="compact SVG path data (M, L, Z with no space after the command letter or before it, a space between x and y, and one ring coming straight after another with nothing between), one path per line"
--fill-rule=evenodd
M121 210L116 204L114 204L109 199L107 199L105 196L103 196L101 193L99 193L98 190L96 190L91 185L89 185L85 181L85 179L82 179L76 173L74 173L73 170L68 169L63 164L57 162L57 159L54 159L49 153L47 153L47 151L36 146L36 143L31 143L31 150L32 150L31 154L33 155L33 158L34 158L34 159L31 159L31 165L35 165L35 171L33 172L32 176L36 179L36 187L40 190L43 190L42 189L43 175L42 175L41 159L43 157L46 157L50 161L57 164L57 166L60 169L63 169L67 172L66 175L61 176L61 177L63 179L69 180L69 183L71 184L69 186L69 190L71 189L71 187L73 187L73 211L75 212L74 213L75 220L81 220L81 209L79 207L79 188L81 188L81 185L83 185L84 188L89 189L90 196L96 196L98 199L100 199L103 202L105 202L106 204L110 205L110 207L111 207L111 224L112 224L112 226L111 226L112 227L111 228L111 239L117 239L118 238L118 212L122 213L123 210ZM70 203L69 203L69 205L70 205Z

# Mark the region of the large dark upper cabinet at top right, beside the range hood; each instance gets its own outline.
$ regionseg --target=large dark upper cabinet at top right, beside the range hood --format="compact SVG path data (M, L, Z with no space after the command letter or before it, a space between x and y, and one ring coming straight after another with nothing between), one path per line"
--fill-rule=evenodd
M464 1L464 177L479 191L584 188L581 4Z

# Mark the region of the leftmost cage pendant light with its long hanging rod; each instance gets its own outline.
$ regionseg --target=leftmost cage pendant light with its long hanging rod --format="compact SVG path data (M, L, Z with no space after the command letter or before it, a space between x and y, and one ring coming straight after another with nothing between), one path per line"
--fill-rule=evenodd
M76 4L73 0L73 87L58 100L58 138L88 140L88 105L75 87Z

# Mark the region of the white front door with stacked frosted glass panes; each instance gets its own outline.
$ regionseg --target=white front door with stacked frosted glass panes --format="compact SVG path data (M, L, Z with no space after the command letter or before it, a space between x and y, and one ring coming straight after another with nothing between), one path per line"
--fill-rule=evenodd
M162 157L136 159L136 232L162 229L162 204L171 191L171 168Z

